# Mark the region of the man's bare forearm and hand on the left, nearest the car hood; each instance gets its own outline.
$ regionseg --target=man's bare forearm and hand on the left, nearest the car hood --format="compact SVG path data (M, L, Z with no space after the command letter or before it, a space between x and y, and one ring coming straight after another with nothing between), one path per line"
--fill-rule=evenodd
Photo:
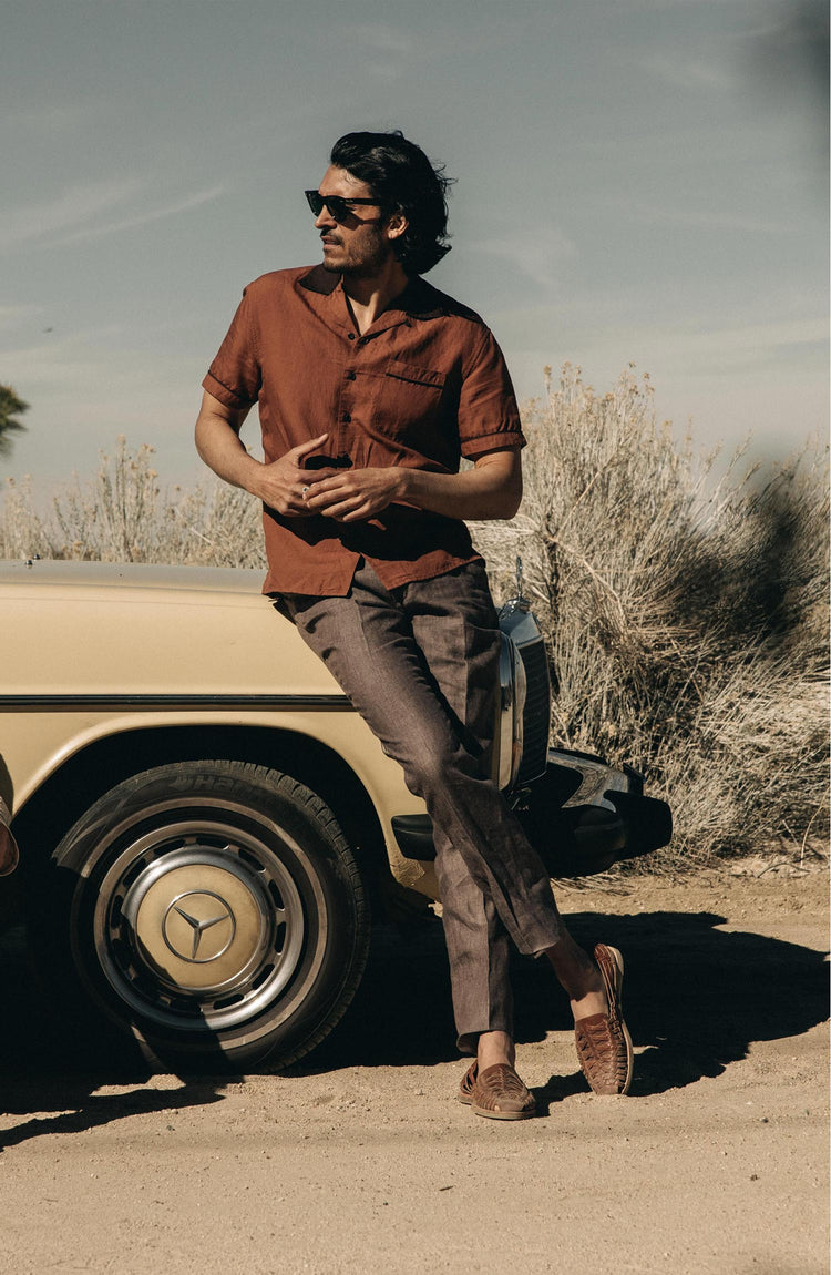
M303 502L303 487L312 473L303 469L303 459L317 450L328 439L326 433L292 448L279 460L265 464L255 460L245 450L240 439L242 422L249 408L226 407L205 390L196 418L196 451L219 478L233 487L242 487L270 509L287 518L308 518ZM314 470L314 477L334 474L335 469Z

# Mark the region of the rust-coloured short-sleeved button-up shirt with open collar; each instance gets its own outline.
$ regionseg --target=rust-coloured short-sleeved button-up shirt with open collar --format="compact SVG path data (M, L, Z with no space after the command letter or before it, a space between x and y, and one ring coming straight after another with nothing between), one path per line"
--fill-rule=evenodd
M259 403L266 462L329 432L306 465L458 473L525 444L502 353L478 315L421 278L361 335L338 274L275 270L245 289L203 381L231 408ZM365 557L387 589L478 557L461 520L390 505L365 523L263 514L265 593L345 595Z

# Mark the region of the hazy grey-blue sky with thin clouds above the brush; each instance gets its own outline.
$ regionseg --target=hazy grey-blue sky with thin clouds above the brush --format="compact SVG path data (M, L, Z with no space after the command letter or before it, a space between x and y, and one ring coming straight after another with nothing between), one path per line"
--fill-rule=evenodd
M0 479L120 435L195 483L242 287L315 264L302 191L352 129L456 182L430 282L521 398L635 365L696 446L827 430L827 142L813 0L0 0ZM256 422L243 435L256 453Z

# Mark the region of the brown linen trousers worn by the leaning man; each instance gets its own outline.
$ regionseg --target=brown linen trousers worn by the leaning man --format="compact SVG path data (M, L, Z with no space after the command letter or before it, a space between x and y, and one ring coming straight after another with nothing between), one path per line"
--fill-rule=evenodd
M479 1033L512 1033L509 935L533 955L562 936L548 873L488 773L500 634L484 564L387 590L359 561L345 598L278 607L427 805L459 1048L475 1053Z

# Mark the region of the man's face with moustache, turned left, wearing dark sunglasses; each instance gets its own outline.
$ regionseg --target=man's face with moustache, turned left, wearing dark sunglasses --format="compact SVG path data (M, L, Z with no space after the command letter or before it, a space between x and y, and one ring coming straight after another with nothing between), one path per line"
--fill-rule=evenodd
M317 187L321 195L340 195L343 199L370 199L372 191L345 168L326 168ZM353 278L377 274L393 256L390 219L384 209L370 204L357 204L344 222L336 222L324 205L315 219L324 246L324 269Z

